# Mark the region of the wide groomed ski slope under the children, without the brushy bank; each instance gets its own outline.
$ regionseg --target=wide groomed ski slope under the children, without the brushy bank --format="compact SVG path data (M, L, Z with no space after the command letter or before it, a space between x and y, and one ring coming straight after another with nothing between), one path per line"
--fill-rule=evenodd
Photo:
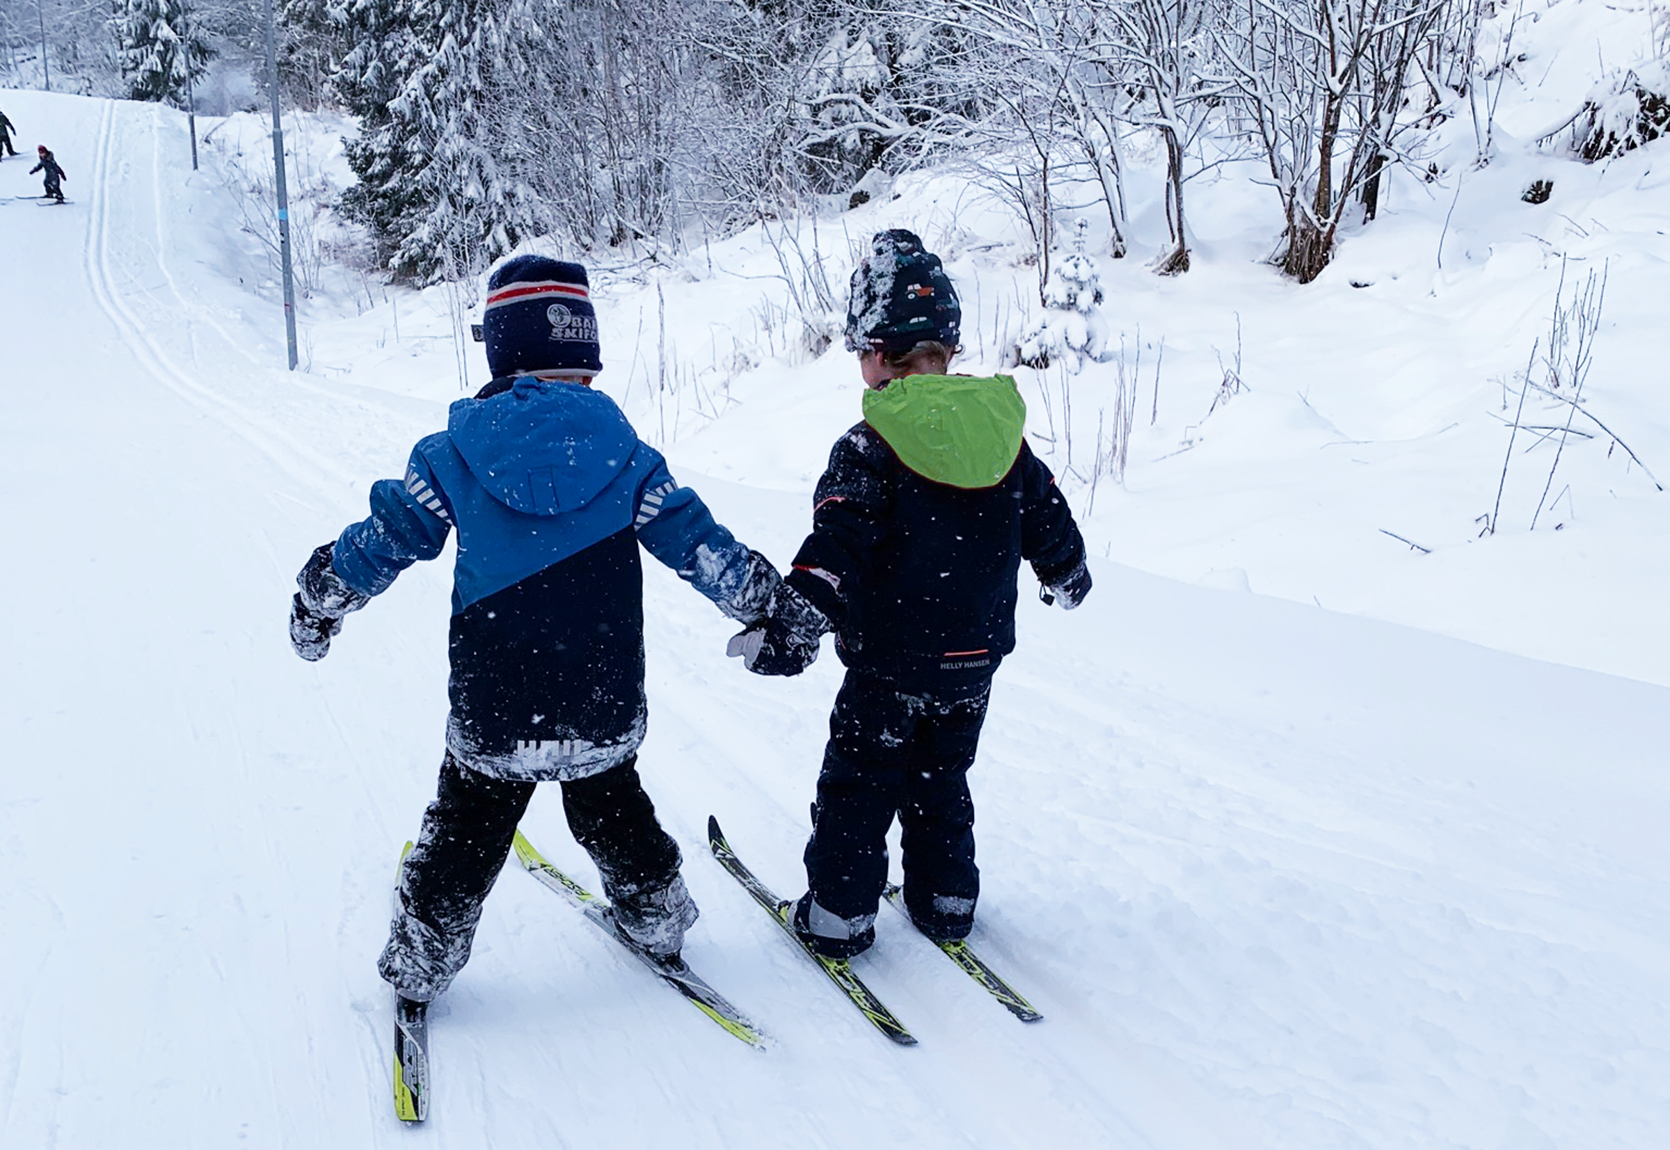
M184 117L33 92L7 112L53 125L77 204L0 212L0 1145L1647 1147L1670 1127L1670 799L1647 751L1670 691L1099 562L1074 616L1022 596L974 783L977 943L1045 1021L883 913L857 968L920 1038L895 1048L706 856L715 813L798 893L840 669L825 644L802 679L745 676L733 628L646 564L641 764L703 911L686 956L777 1047L716 1033L511 866L429 1015L429 1120L402 1128L374 960L439 764L451 556L317 666L284 614L307 551L444 402L282 371L277 294L229 270L229 194L190 174ZM0 164L0 192L25 170ZM807 492L671 462L787 562ZM551 788L526 825L591 873Z

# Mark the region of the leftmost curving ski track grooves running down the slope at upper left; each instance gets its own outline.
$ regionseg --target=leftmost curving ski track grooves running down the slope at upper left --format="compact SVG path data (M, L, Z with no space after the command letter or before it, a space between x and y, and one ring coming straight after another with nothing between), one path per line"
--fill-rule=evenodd
M197 382L190 372L180 369L169 352L164 351L162 340L150 334L150 327L147 324L140 322L139 315L125 302L125 292L117 287L117 279L110 267L109 250L110 230L114 227L110 207L117 200L112 194L110 184L110 155L115 149L115 119L119 107L120 105L115 100L105 102L99 124L99 142L95 145L94 184L100 190L97 195L90 197L94 202L94 212L89 222L84 260L87 282L92 289L94 299L99 302L100 310L105 312L115 329L122 334L139 364L159 384L271 459L276 467L291 476L297 484L309 487L319 496L334 499L336 492L342 486L349 486L352 482L354 476L351 472L341 467L336 461L316 452L301 439L272 431L264 424L257 412L232 402L225 396L220 396ZM152 152L155 152L155 135L152 135ZM152 199L152 210L154 215L162 214L160 200ZM164 270L164 275L167 275L160 250L157 254L157 265ZM297 461L302 461L307 466L297 466ZM322 482L321 476L327 476L334 482Z

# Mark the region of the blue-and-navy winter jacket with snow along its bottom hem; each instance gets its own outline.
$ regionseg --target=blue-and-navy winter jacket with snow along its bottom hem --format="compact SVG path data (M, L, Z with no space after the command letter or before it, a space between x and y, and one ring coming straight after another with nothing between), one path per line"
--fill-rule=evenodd
M533 376L454 402L404 481L372 486L332 567L374 596L454 529L446 739L498 778L584 778L638 751L640 544L743 623L775 583L608 396Z

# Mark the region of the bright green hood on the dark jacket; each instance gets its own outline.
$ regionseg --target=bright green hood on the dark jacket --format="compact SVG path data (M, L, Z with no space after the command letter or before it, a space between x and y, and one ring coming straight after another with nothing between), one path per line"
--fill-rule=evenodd
M1027 404L1010 376L905 376L863 392L863 421L924 479L990 487L1020 454Z

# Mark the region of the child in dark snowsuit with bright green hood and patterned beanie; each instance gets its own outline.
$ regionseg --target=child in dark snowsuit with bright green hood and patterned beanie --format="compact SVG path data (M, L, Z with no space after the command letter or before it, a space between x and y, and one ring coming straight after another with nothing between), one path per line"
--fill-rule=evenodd
M895 815L912 921L940 941L969 935L980 873L967 773L992 674L1015 646L1020 561L1062 608L1091 591L1079 527L1025 442L1015 381L945 374L960 320L920 239L873 237L847 307L863 422L830 452L812 534L767 618L728 648L758 674L798 674L833 631L847 666L793 916L832 958L875 941Z

